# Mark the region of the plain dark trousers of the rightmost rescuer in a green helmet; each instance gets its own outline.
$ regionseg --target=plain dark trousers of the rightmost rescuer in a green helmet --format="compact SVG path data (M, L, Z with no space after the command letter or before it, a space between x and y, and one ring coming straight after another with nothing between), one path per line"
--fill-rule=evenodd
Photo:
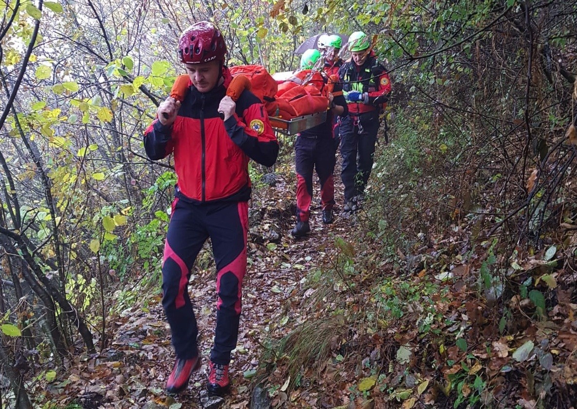
M344 202L365 191L373 167L374 147L379 131L376 111L347 115L340 123L340 154L343 158L340 177L344 185Z

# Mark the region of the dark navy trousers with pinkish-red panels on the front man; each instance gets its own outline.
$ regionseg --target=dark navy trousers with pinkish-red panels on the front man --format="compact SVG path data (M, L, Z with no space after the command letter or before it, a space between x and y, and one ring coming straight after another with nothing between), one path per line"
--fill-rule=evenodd
M190 269L207 238L216 262L216 329L211 361L228 365L238 339L246 272L248 202L192 204L174 199L162 265L162 305L177 358L198 355L196 317L188 293Z

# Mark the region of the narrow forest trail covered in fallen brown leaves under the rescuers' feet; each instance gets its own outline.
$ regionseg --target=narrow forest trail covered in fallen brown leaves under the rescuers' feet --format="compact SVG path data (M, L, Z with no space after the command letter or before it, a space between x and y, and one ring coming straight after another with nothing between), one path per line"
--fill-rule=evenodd
M338 160L338 162L340 162ZM285 171L294 166L284 165ZM283 169L282 166L278 168ZM311 232L295 239L289 230L294 226L295 182L283 171L276 172L274 187L253 192L249 211L260 213L261 221L249 233L249 267L243 281L241 328L237 349L230 365L232 387L222 408L248 408L252 392L252 376L259 365L267 340L280 339L306 319L299 305L306 297L303 279L310 270L323 266L327 257L336 252L334 235L346 236L350 220L340 215L342 183L340 164L335 168L335 222L324 225L319 206L319 186L315 176L311 206ZM287 173L287 172L284 172ZM257 208L257 203L260 203ZM260 210L260 211L259 211ZM256 233L253 234L254 232ZM272 233L271 233L272 232ZM267 237L280 233L277 243ZM264 236L264 239L263 239ZM258 242L258 243L255 243ZM205 250L209 250L208 243ZM203 265L205 268L199 268ZM170 345L170 328L160 304L160 289L144 294L138 305L123 312L114 320L110 347L97 358L79 362L70 375L66 395L86 408L203 408L201 391L206 388L208 357L215 328L216 284L214 264L209 251L198 257L189 281L199 328L199 349L203 365L193 374L186 391L173 397L164 392L164 384L174 363ZM108 330L109 332L111 330ZM62 391L63 392L63 391ZM314 396L315 392L306 392Z

